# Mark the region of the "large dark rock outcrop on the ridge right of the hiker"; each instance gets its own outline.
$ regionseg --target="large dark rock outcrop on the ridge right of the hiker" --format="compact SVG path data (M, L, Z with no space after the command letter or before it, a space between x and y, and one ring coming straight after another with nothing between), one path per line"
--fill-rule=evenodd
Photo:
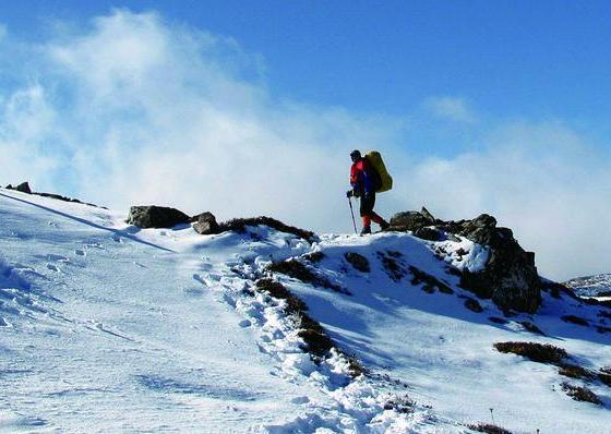
M435 240L434 232L457 234L489 248L486 268L465 270L462 286L483 299L492 299L501 309L534 313L541 303L541 281L535 266L535 254L526 252L508 228L496 227L496 219L482 214L472 220L443 221L426 208L405 212L391 219L391 229L410 230L423 239ZM430 229L430 230L429 230Z

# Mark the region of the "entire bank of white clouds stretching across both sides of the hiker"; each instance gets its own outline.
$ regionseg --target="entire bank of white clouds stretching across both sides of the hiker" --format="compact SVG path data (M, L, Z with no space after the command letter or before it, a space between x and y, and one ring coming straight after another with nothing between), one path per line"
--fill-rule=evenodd
M58 28L14 60L0 57L26 77L0 89L7 183L28 179L125 212L156 203L348 231L347 154L378 147L395 178L383 215L422 204L441 218L490 213L551 277L609 270L611 165L562 123L500 125L479 137L474 148L484 150L417 161L404 120L276 98L261 58L230 38L124 10L85 31ZM36 60L23 61L27 50ZM426 107L477 121L463 99Z

